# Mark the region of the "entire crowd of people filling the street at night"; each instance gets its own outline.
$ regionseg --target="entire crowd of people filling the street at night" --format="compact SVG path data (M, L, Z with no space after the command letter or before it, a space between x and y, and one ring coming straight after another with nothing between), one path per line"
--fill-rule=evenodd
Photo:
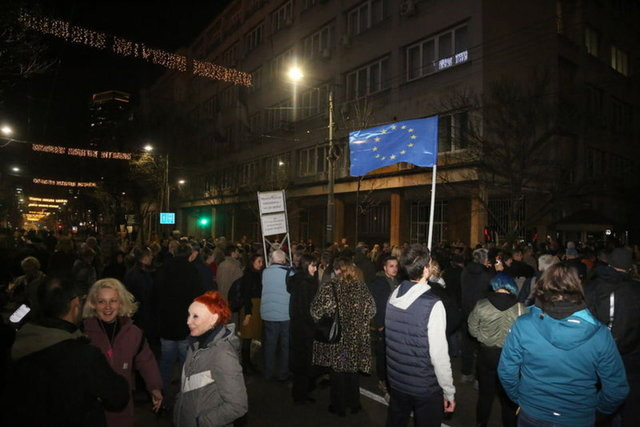
M411 413L440 426L456 408L459 357L479 426L495 397L504 426L636 425L639 255L346 239L264 253L246 239L139 246L7 231L0 420L133 425L133 395L146 390L176 425L231 425L250 411L255 375L291 382L296 405L312 405L328 378L328 410L345 417L362 409L361 374L375 373L388 426ZM327 316L339 326L331 341L318 332Z

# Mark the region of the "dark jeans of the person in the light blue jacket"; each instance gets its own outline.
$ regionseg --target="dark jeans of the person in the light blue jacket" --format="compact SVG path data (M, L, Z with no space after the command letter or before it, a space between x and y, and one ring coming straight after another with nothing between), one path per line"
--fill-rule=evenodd
M264 321L264 376L284 380L289 376L289 320Z

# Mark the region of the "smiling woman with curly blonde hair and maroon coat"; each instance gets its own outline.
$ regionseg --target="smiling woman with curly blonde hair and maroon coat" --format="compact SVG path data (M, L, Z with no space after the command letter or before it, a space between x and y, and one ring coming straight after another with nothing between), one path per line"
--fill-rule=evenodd
M138 308L133 295L117 279L98 280L87 295L82 317L91 344L104 353L111 368L135 386L133 369L140 372L151 394L153 410L162 404L160 370L144 333L131 317ZM133 426L133 401L120 412L105 411L109 426Z

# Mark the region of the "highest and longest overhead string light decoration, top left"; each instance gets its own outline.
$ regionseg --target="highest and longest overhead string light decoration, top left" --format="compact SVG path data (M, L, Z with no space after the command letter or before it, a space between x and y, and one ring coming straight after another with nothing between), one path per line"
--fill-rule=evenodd
M139 58L170 70L189 72L212 80L221 80L242 86L251 86L251 74L233 68L226 68L208 61L192 59L185 55L153 49L144 43L134 42L122 37L93 31L68 21L34 16L21 11L18 21L25 27L49 34L63 40L90 46L95 49L109 49L120 56Z

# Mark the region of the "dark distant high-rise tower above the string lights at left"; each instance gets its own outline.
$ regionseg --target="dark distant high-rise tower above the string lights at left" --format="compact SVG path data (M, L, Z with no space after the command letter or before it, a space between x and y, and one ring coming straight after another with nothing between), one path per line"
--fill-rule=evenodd
M89 145L100 150L122 150L122 137L131 114L131 96L127 92L94 93L89 102Z

